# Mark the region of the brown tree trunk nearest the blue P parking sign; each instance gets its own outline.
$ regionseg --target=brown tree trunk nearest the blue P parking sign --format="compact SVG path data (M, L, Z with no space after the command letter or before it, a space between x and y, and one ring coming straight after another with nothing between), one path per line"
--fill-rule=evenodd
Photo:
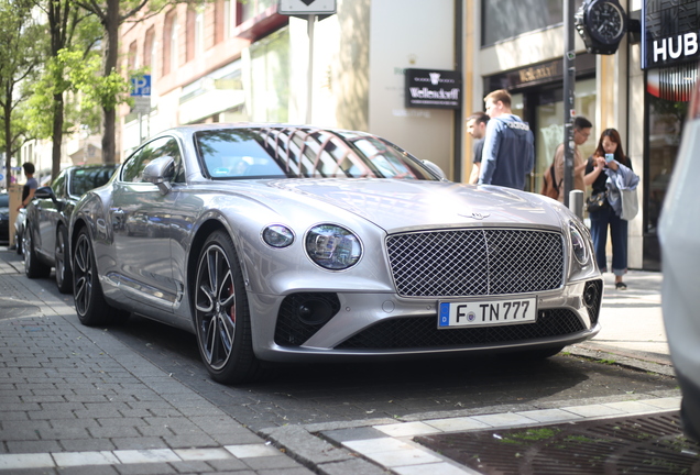
M117 70L117 59L119 57L119 0L107 0L107 15L103 20L105 31L105 77ZM102 162L106 164L117 163L117 110L114 108L102 108L103 125L102 131Z

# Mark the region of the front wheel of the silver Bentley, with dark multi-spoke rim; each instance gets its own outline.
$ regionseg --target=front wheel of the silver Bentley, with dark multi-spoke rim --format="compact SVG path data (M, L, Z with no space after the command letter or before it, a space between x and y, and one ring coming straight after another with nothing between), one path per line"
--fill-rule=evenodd
M217 231L205 242L193 295L199 353L211 377L225 384L256 378L248 297L228 233Z

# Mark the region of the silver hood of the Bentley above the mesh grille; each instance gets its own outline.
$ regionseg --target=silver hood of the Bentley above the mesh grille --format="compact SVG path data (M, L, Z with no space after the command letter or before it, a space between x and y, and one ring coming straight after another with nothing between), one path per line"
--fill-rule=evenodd
M504 223L558 229L564 209L535 194L448 181L289 179L267 186L341 208L389 232Z

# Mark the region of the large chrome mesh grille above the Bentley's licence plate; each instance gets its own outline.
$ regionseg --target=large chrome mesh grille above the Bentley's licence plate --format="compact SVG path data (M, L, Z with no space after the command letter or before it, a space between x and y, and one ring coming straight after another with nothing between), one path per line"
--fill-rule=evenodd
M559 288L564 239L548 231L478 229L390 235L398 295L460 297Z

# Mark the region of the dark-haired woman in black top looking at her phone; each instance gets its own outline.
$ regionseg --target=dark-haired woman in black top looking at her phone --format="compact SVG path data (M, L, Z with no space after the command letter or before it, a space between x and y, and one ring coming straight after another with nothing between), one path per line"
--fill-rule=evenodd
M622 150L620 133L615 129L605 129L598 141L598 148L586 165L583 181L591 185L593 191L587 200L591 219L591 236L595 248L595 261L601 273L608 270L605 246L608 228L612 240L612 272L615 274L615 288L625 290L627 285L622 276L627 273L627 221L623 220L610 205L608 197L606 169L617 170L620 164L632 169L632 162Z

